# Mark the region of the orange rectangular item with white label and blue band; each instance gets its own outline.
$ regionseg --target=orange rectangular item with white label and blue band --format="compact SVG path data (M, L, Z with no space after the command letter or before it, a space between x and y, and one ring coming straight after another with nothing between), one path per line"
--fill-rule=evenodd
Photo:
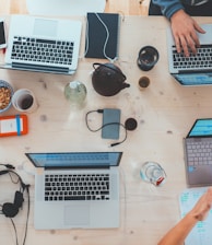
M26 115L13 115L0 117L0 137L22 136L28 132Z

